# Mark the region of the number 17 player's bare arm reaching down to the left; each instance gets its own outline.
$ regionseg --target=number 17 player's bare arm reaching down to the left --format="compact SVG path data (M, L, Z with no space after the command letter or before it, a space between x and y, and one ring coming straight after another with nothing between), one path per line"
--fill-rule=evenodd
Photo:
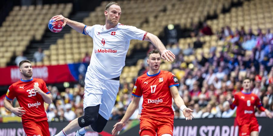
M129 120L129 118L133 115L133 113L135 112L135 110L138 108L138 104L139 104L139 100L140 97L133 97L132 102L129 104L125 115L123 116L123 118L121 119L120 122L116 123L113 127L114 129L112 130L112 135L116 135L116 133L118 131L121 131L122 128L124 127L125 123Z

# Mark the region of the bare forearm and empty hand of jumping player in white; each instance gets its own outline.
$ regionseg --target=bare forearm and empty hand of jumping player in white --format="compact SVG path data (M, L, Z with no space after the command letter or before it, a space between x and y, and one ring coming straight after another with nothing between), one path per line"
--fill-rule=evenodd
M144 40L150 41L158 50L161 52L161 58L167 61L173 61L175 59L174 53L170 50L167 50L159 38L151 33L147 33Z

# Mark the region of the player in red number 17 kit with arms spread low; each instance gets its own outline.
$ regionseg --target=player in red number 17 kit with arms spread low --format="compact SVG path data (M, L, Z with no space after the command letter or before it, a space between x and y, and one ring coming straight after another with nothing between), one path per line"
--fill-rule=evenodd
M172 136L174 129L174 112L172 109L172 98L180 107L186 120L193 118L190 108L187 108L180 97L177 86L179 82L174 74L159 70L159 50L152 50L148 54L147 63L149 71L136 80L133 89L133 100L128 106L124 117L114 125L112 134L121 131L128 119L138 108L140 97L143 95L142 112L140 117L140 136Z

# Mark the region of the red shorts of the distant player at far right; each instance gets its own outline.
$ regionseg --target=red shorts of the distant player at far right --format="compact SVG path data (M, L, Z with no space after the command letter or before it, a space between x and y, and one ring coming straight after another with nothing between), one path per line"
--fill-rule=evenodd
M239 126L239 136L250 135L252 131L259 131L259 124L257 120L252 120L248 124L242 124Z

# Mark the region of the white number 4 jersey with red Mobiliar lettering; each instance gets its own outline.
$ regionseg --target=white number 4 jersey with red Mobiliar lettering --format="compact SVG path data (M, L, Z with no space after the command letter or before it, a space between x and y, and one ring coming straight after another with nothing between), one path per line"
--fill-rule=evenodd
M87 71L103 79L120 76L130 40L144 40L147 34L136 27L120 23L108 30L105 25L87 26L85 31L93 38L93 53Z

